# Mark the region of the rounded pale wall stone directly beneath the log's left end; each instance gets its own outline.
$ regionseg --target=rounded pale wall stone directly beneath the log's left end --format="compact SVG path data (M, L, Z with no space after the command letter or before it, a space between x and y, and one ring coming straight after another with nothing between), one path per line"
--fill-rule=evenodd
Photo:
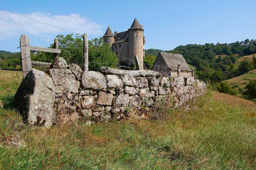
M84 71L81 86L85 89L101 90L107 88L105 76L95 71Z

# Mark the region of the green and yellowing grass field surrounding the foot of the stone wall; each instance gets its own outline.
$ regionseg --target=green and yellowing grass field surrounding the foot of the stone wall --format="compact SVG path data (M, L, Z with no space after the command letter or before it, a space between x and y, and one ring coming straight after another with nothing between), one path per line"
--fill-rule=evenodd
M187 109L163 108L170 115L165 121L46 129L24 125L11 107L21 81L17 74L0 72L0 169L256 168L255 108L242 107L236 98L229 104L208 92Z

